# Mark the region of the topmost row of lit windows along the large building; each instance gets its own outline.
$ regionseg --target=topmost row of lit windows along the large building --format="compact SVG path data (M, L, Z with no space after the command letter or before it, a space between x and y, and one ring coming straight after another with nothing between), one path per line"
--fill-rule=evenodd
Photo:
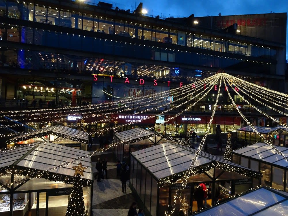
M276 50L270 48L252 46L251 44L247 43L227 41L205 35L195 35L193 33L185 34L184 32L184 35L182 36L183 32L178 32L177 30L173 29L149 26L102 16L94 16L92 14L82 14L74 11L63 11L56 8L44 7L43 5L34 5L32 3L15 3L12 1L7 1L6 11L5 1L0 1L0 16L6 15L10 18L65 26L86 31L185 45L189 47L215 50L218 52L229 52L246 56L272 59L276 58ZM182 37L185 37L184 43L182 41Z

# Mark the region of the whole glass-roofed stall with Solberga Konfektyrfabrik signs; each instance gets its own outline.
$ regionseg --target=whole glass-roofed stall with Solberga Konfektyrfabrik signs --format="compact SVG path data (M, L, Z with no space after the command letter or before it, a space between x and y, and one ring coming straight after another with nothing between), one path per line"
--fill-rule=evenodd
M181 177L188 169L196 149L173 143L163 143L131 153L130 187L145 206L145 215L164 215L168 205L173 204L174 195L181 186ZM190 176L182 189L190 212L197 210L193 192L199 183L208 189L208 206L217 200L226 200L234 194L257 186L261 173L200 152L194 167L195 175ZM245 175L244 175L245 173ZM255 184L256 182L256 184ZM176 209L179 211L179 200ZM148 214L149 213L149 214Z

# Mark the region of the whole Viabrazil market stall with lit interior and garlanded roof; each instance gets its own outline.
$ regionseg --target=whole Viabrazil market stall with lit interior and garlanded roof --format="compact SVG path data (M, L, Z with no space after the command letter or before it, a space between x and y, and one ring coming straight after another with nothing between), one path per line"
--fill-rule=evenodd
M73 186L75 166L55 164L87 156L86 151L54 143L35 143L0 153L0 215L65 216ZM87 215L92 211L93 173L90 157L83 157L87 169L83 185ZM13 202L11 202L13 200Z

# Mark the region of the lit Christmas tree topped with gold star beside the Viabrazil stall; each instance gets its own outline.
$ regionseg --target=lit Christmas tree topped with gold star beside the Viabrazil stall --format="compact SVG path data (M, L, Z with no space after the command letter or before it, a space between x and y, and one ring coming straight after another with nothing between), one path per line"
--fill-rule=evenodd
M86 216L84 198L83 198L83 187L80 183L81 176L84 176L83 171L87 167L82 166L82 163L78 166L72 167L75 170L74 176L76 176L73 183L71 197L67 206L66 216Z

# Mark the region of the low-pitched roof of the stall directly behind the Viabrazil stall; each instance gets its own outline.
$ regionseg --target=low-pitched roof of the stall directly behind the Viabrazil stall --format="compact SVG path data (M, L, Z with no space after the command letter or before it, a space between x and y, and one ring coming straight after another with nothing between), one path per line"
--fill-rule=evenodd
M31 138L37 138L37 137L43 137L48 134L53 134L59 137L69 137L69 139L73 141L79 141L83 143L88 143L88 133L81 131L81 130L76 130L73 128L67 128L64 126L56 125L48 128L42 128L39 130L35 130L33 132L25 133L20 136L14 137L7 142L17 142L17 141L23 141Z

